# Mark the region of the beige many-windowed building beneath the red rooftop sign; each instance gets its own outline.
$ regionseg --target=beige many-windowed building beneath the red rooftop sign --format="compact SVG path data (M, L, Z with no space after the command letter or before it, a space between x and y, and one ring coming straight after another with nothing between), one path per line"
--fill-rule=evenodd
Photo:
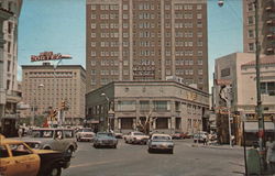
M85 118L86 72L80 65L23 65L22 97L30 106L23 117L45 116L65 101L65 124L79 124Z

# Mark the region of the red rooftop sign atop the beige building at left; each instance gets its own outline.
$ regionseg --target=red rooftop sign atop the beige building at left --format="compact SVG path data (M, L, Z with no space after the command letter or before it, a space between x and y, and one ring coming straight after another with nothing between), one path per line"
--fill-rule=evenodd
M61 53L54 54L53 52L43 52L40 55L32 55L31 62L41 62L41 61L55 61L63 58L72 58L70 55L62 55Z

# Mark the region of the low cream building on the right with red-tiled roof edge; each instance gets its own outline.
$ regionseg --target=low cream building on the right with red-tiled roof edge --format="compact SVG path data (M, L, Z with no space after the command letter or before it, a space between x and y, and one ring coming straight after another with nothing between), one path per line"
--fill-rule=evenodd
M266 134L274 134L275 117L275 57L262 55L261 64L261 99L263 116L265 119ZM222 89L231 85L232 101L231 117L232 134L237 142L242 142L242 123L246 140L256 141L258 131L258 118L255 112L256 106L256 79L255 79L255 54L233 53L216 59L215 64L215 110L217 114L217 131L220 141L227 142L228 133L228 110L222 99ZM244 122L243 122L244 121ZM267 135L266 135L267 136Z

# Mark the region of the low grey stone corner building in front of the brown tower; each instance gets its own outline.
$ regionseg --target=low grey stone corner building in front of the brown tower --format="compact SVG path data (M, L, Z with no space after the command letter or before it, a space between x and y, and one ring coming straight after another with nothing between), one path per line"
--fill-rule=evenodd
M140 120L151 117L154 119L153 131L196 132L202 130L202 118L209 109L208 94L178 82L114 81L86 95L87 120L98 121L101 130L107 112L107 100L100 96L102 92L109 98L110 109L114 111L114 131L136 130ZM165 108L156 110L158 103L164 103ZM96 111L98 113L94 113ZM129 119L131 127L123 129ZM166 128L160 128L162 125Z

